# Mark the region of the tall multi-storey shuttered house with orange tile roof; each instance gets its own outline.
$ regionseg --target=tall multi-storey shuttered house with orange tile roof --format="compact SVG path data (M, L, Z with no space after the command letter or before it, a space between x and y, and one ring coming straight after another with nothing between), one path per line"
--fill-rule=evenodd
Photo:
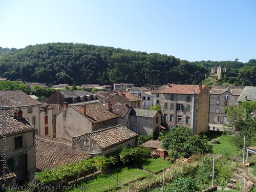
M208 131L209 90L207 86L167 84L161 91L163 120L170 130L183 125L195 134Z

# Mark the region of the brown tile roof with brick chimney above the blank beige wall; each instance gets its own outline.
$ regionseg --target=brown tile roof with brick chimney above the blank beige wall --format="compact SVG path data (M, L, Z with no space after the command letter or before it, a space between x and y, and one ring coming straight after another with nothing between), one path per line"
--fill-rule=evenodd
M100 105L99 103L71 105L70 107L81 113L80 109L83 105L86 105L86 115L84 116L87 117L93 123L99 123L102 121L118 117L116 114L106 110L105 107Z

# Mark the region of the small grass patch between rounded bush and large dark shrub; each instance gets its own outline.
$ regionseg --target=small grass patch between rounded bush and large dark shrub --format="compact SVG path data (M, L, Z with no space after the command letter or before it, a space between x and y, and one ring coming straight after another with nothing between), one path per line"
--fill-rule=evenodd
M148 159L148 163L143 165L143 168L146 170L150 170L151 172L158 173L163 168L169 168L172 166L172 163L169 161L166 161L165 159L162 158L157 158L157 159Z

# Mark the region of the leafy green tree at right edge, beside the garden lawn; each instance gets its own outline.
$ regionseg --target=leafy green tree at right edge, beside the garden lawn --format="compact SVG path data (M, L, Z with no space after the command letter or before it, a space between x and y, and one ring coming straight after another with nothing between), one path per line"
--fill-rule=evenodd
M244 101L237 108L228 106L227 115L230 125L238 131L234 137L234 143L243 147L243 137L246 138L246 146L256 145L256 118L252 117L256 111L256 101Z

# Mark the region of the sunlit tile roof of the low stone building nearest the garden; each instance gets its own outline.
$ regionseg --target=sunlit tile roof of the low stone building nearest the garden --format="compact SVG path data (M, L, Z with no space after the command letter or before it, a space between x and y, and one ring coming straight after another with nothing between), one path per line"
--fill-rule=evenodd
M87 134L102 150L127 140L138 137L138 134L122 124Z

